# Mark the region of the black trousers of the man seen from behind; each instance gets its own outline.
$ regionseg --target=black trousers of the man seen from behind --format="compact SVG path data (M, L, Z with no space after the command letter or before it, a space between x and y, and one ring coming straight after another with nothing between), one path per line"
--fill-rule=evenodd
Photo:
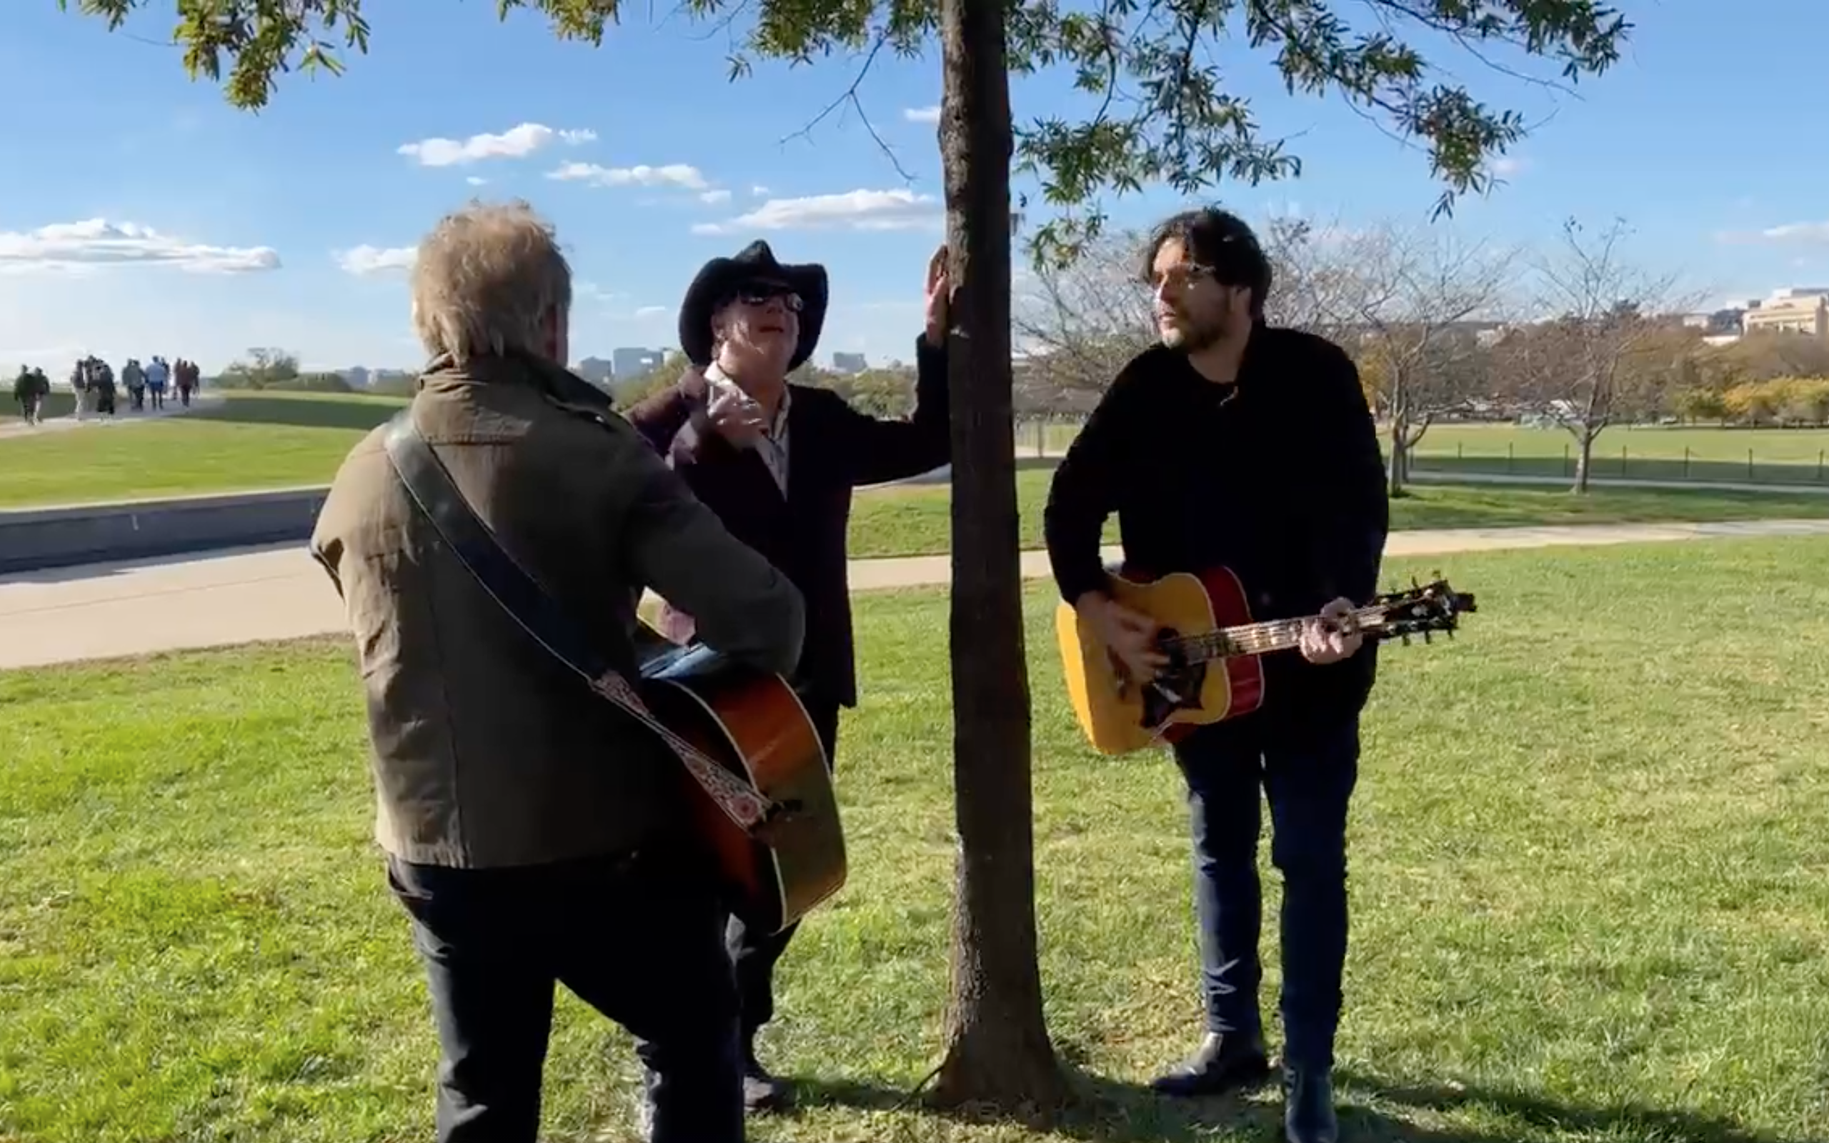
M664 854L530 869L390 861L439 1028L439 1143L534 1143L554 986L627 1028L651 1143L741 1143L737 993L715 885Z

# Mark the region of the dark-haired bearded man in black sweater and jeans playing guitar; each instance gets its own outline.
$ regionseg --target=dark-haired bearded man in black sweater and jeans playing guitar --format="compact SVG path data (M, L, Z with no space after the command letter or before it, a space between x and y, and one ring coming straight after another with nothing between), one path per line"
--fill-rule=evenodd
M1299 657L1264 662L1264 704L1174 746L1187 781L1207 1035L1160 1077L1207 1095L1269 1077L1258 1015L1260 790L1284 876L1286 1134L1333 1143L1330 1072L1346 958L1346 808L1375 657L1342 622L1377 585L1388 529L1383 461L1346 353L1264 320L1271 271L1218 208L1161 223L1145 249L1161 336L1118 375L1055 470L1048 558L1061 596L1149 678L1156 625L1108 594L1099 561L1118 514L1125 561L1150 576L1231 569L1266 618L1319 616Z

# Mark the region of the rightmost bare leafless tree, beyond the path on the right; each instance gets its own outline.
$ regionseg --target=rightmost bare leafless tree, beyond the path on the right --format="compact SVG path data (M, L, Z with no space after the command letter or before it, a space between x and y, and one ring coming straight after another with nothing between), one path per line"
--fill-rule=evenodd
M1620 249L1624 219L1588 234L1575 219L1538 260L1533 326L1496 346L1509 393L1575 437L1575 492L1588 490L1593 444L1610 424L1650 410L1675 373L1666 360L1672 320L1695 298L1674 298L1674 276L1633 265ZM1685 305L1683 302L1688 302Z

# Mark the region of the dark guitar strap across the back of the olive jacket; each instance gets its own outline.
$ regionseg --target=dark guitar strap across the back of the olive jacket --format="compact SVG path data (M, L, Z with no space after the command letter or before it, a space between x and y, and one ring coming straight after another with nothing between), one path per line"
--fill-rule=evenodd
M578 627L565 618L558 600L501 547L490 527L476 514L444 463L413 424L412 406L388 422L384 443L388 461L393 463L401 483L406 485L408 496L432 521L444 545L536 644L576 671L598 697L607 699L655 732L739 828L754 832L781 808L768 801L761 790L673 733L647 710L629 680L591 647Z

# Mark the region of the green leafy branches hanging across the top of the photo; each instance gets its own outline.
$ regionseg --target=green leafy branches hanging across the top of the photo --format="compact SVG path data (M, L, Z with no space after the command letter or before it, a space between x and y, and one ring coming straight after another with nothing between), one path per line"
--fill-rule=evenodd
M1436 212L1443 214L1461 196L1491 188L1492 161L1524 139L1525 124L1480 101L1408 40L1447 46L1456 60L1465 55L1494 75L1547 66L1560 79L1527 79L1555 86L1606 71L1631 27L1599 0L1094 0L1072 9L1059 0L1002 2L1008 59L1000 64L1017 75L1061 68L1077 91L1099 101L1077 121L1019 115L1011 124L1015 170L1032 176L1055 208L1030 238L1039 265L1077 258L1099 236L1105 196L1149 185L1200 196L1225 183L1300 177L1300 157L1264 135L1218 60L1242 68L1249 49L1291 95L1344 99L1419 144L1441 185ZM77 0L75 7L110 29L137 9L176 7L172 37L187 71L221 82L227 99L247 110L267 106L274 79L294 66L337 75L338 48L368 51L360 0ZM543 15L560 38L602 44L622 4L496 0L503 20L516 9ZM801 66L836 55L874 59L883 48L920 57L938 22L936 0L677 0L673 11L741 27L741 48L728 59L732 80L750 75L757 59ZM1494 57L1507 64L1489 62Z

